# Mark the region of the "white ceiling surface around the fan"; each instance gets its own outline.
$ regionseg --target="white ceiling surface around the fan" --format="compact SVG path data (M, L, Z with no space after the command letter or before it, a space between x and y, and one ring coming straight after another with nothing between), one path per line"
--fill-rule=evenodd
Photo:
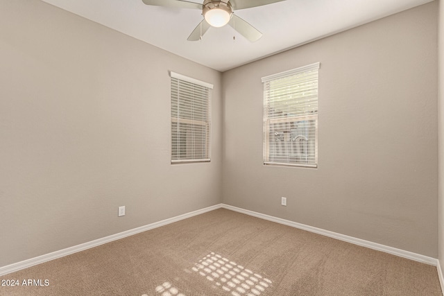
M142 0L42 1L226 71L432 0L286 0L235 11L264 34L254 43L234 33L230 26L210 28L203 40L187 41L202 19L200 10L146 6Z

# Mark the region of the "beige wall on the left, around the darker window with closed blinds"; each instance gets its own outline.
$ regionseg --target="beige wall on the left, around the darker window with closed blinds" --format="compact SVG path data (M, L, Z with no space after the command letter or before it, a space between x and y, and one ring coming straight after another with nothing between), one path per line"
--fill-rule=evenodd
M0 57L0 266L221 202L218 71L37 0ZM214 84L210 164L170 165L170 70Z

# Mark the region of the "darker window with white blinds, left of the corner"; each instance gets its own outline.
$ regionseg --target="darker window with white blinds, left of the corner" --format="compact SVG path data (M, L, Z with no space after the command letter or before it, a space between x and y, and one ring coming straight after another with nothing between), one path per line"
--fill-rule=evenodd
M210 162L213 85L171 72L171 163Z

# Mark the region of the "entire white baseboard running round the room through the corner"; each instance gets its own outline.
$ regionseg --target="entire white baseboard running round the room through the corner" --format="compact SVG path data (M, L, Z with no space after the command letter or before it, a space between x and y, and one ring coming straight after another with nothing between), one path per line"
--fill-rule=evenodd
M257 218L262 218L264 220L269 220L269 221L272 221L272 222L275 222L275 223L280 223L280 224L283 224L283 225L288 225L288 226L295 227L295 228L298 228L298 229L306 230L308 232L314 232L316 234L321 234L323 236L329 236L331 238L339 239L340 241L346 241L348 243L353 243L355 245L361 245L363 247L369 247L370 249L373 249L373 250L378 250L378 251L386 252L386 253L393 254L393 255L396 255L396 256L401 256L401 257L404 257L404 258L407 258L407 259L411 259L411 260L414 260L414 261L419 261L419 262L422 262L422 263L427 263L427 264L430 264L430 265L435 265L438 268L438 277L439 277L439 280L440 280L440 283L441 283L441 287L444 287L444 285L443 285L444 278L443 278L442 270L439 267L438 259L435 259L435 258L432 258L432 257L428 257L428 256L424 256L424 255L420 255L420 254L416 254L416 253L413 253L413 252L408 252L408 251L396 249L395 247L388 247L386 245L380 245L379 243L372 243L371 241L364 241L362 239L354 238L352 236L346 236L344 234L338 234L336 232L330 232L328 230L312 227L312 226L309 226L309 225L304 225L304 224L301 224L301 223L296 223L296 222L293 222L293 221L290 221L290 220L285 220L285 219L282 219L282 218L268 216L266 214L257 213L255 211L250 211L250 210L247 210L247 209L241 209L239 207L233 207L233 206L230 206L229 204L215 204L214 206L211 206L211 207L206 207L204 209L199 209L197 211L191 211L191 212L189 212L187 214L182 214L180 216L176 216L176 217L173 217L173 218L161 220L159 222L151 223L151 224L148 224L148 225L145 225L145 226L142 226L142 227L137 227L135 229L130 229L130 230L127 230L126 232L120 232L119 234L112 234L110 236L106 236L104 238L99 238L99 239L96 239L94 241L90 241L88 243L83 243L83 244L80 244L80 245L75 245L74 247L68 247L68 248L63 249L63 250L59 250L59 251L52 252L52 253L49 253L49 254L44 254L42 256L38 256L38 257L35 257L35 258L27 259L27 260L24 260L24 261L21 261L21 262L18 262L18 263L12 263L10 265L6 265L6 266L3 266L3 267L0 268L0 276L7 275L8 273L15 272L15 271L18 271L18 270L22 270L24 268L29 268L29 267L31 267L33 265L37 265L37 264L40 264L40 263L51 261L53 259L58 259L58 258L60 258L62 256L67 256L67 255L70 255L70 254L74 254L76 252L87 250L87 249L89 249L91 247L96 247L98 245L103 245L104 243L110 243L112 241L116 241L118 239L125 238L126 236L132 236L133 234L138 234L140 232L146 232L147 230L150 230L150 229L154 229L154 228L157 228L157 227L168 225L170 223L174 223L174 222L186 219L186 218L190 218L192 216L196 216L196 215L199 215L199 214L206 213L207 211L213 211L215 209L220 209L220 208L229 209L231 211L237 211L237 212L242 213L242 214L246 214L246 215L249 215L249 216L254 216L254 217L257 217ZM443 288L443 290L444 290L444 288Z

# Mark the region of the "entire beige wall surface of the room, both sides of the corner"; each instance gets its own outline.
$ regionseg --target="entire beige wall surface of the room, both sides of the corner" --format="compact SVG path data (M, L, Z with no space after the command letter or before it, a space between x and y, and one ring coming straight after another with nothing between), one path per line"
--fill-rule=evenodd
M438 256L437 9L221 76L42 1L1 1L0 266L219 202ZM264 167L260 78L312 62L319 168ZM210 164L169 164L168 71L214 84Z

